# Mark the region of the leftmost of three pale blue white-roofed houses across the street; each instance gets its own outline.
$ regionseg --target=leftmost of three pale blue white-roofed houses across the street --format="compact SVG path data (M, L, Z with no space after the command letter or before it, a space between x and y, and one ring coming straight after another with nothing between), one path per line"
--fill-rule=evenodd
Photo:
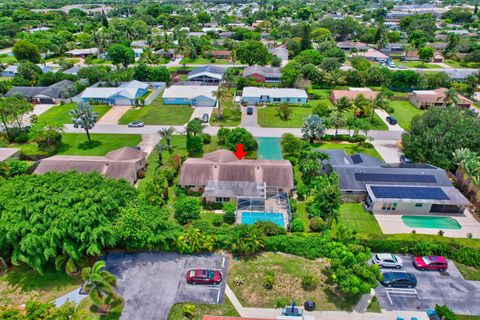
M96 84L96 86L85 89L80 94L80 99L87 103L133 106L138 98L149 96L150 91L161 91L164 88L164 82L144 83L137 80L121 83L118 87L100 87L99 84Z

